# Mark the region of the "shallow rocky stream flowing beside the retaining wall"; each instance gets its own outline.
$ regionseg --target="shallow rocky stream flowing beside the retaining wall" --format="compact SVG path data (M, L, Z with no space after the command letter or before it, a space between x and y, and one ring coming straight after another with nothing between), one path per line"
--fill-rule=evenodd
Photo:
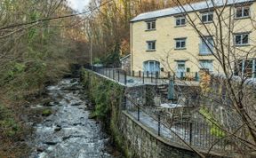
M30 158L114 158L109 154L108 135L100 123L89 119L89 102L84 99L78 79L63 79L47 87L53 113L36 123L35 137L29 143ZM40 108L36 105L31 108Z

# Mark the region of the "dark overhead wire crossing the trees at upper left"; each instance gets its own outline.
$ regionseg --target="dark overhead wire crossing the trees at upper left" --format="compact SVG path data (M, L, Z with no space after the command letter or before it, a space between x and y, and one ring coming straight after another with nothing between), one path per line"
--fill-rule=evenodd
M65 18L69 18L69 17L75 17L75 16L78 16L78 15L83 15L83 14L86 14L88 12L94 12L95 10L100 9L100 7L110 3L112 1L113 0L110 0L110 1L108 1L106 3L100 4L99 6L93 8L92 10L88 10L88 11L84 11L84 12L78 12L78 13L64 15L64 16L45 18L45 19L41 19L41 20L33 20L33 21L30 21L30 22L24 22L24 23L20 23L20 24L12 24L12 25L0 28L0 30L4 30L4 29L8 29L8 28L17 28L17 27L27 26L27 25L30 25L30 24L35 24L35 23L39 23L39 22L43 22L43 21L47 21L47 20L59 20L59 19L65 19Z

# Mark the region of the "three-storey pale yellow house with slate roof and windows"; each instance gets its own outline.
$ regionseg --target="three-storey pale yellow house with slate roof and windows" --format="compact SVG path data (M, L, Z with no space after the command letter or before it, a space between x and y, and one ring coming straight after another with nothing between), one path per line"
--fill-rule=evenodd
M210 72L222 73L222 67L214 53L220 46L216 12L223 10L223 45L231 43L231 46L224 50L228 52L228 49L232 49L232 52L236 53L227 55L233 60L230 65L239 72L250 73L256 77L256 31L252 22L256 17L255 1L213 2L215 4L212 4L212 1L203 1L145 12L132 19L131 70L160 73L172 71L178 77L181 73L196 73L203 68ZM194 20L196 27L188 22L188 19ZM232 25L232 31L229 31L226 25ZM199 36L195 28L203 35ZM230 32L232 35L227 38Z

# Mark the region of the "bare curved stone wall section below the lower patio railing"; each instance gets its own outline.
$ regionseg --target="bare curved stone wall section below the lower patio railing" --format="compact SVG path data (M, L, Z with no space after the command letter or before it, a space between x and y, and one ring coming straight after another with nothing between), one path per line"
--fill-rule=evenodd
M120 130L125 144L129 146L129 157L140 158L196 158L194 152L172 145L164 138L158 137L147 127L123 112L120 119Z

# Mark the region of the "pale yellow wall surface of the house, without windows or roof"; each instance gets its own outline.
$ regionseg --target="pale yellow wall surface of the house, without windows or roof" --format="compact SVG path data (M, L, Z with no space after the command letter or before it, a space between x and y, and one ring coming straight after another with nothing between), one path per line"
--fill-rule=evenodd
M219 8L221 11L222 8ZM219 12L220 12L219 11ZM231 12L231 13L230 13ZM233 36L228 38L228 28L229 18L231 14L231 26L234 26L232 32L234 33L242 33L252 31L250 34L250 46L240 46L240 47L225 47L225 53L228 55L228 48L232 51L235 51L236 58L241 59L245 58L243 56L243 50L248 51L252 49L252 43L256 43L256 32L253 31L256 27L256 23L254 22L254 27L252 25L252 20L250 19L241 19L234 20L234 6L227 6L222 14L224 21L222 21L222 26L217 23L217 15L214 12L214 21L218 26L214 28L213 23L205 24L207 28L209 28L210 33L207 33L204 25L198 20L196 14L201 15L200 12L189 12L189 17L192 20L196 20L196 28L198 28L201 32L203 32L204 36L212 35L213 39L219 38L220 36L220 27L223 28L223 41L224 43L228 43L230 41L233 44ZM175 15L174 15L175 16ZM174 16L166 16L163 18L156 19L156 30L147 31L147 23L144 20L135 21L131 23L131 51L132 51L132 70L134 71L143 71L143 61L147 60L157 60L160 62L161 66L164 67L164 71L173 71L176 70L177 62L176 60L187 60L186 67L190 68L190 72L198 72L199 71L199 60L200 59L212 59L214 72L223 72L220 67L219 61L214 58L213 55L208 56L200 56L199 55L199 44L200 37L196 33L196 29L191 27L188 24L185 27L176 27L175 26L175 17ZM188 17L188 16L187 16ZM255 20L256 17L256 4L253 3L251 5L251 17ZM217 31L218 30L218 31ZM216 33L216 31L218 33ZM187 48L186 50L175 50L175 40L174 38L187 37ZM219 38L220 39L220 38ZM156 51L147 51L147 41L156 40ZM218 40L220 42L220 40ZM220 43L218 44L220 45ZM221 49L218 46L218 49ZM245 55L245 54L244 54ZM250 54L252 57L255 57L255 52ZM233 55L230 56L231 60L234 59ZM233 65L232 63L231 65Z

